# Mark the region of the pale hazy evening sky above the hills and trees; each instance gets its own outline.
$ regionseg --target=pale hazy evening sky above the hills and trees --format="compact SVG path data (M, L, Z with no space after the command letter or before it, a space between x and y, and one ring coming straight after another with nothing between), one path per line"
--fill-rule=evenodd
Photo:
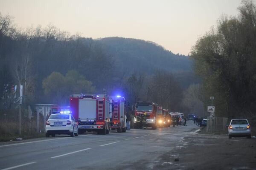
M83 37L149 40L187 55L222 14L238 14L240 4L241 0L0 0L0 12L15 17L23 28L52 23Z

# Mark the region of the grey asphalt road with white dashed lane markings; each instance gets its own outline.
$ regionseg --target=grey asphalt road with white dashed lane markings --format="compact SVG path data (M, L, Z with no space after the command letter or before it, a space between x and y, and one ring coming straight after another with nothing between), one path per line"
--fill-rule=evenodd
M0 170L186 169L186 162L179 161L179 152L195 142L188 139L227 139L197 134L198 129L189 121L188 126L157 130L132 129L108 135L89 133L1 143Z

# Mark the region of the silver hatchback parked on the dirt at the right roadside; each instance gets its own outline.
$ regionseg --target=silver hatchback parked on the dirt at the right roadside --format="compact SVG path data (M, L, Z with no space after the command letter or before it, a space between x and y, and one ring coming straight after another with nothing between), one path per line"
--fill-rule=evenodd
M250 124L247 119L232 119L228 126L228 137L243 137L251 138Z

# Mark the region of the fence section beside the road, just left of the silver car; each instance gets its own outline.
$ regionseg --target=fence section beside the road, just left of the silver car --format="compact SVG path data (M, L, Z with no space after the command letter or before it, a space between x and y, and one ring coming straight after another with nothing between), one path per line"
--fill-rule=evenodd
M226 117L207 117L207 132L227 132L227 118Z

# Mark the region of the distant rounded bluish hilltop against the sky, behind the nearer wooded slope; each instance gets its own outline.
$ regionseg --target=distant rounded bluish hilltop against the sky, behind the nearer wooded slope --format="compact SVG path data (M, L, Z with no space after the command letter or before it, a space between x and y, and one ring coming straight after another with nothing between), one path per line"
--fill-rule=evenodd
M132 38L108 37L102 42L106 51L113 56L119 70L143 71L148 74L155 70L170 72L191 71L191 60L187 56L173 54L154 42Z

